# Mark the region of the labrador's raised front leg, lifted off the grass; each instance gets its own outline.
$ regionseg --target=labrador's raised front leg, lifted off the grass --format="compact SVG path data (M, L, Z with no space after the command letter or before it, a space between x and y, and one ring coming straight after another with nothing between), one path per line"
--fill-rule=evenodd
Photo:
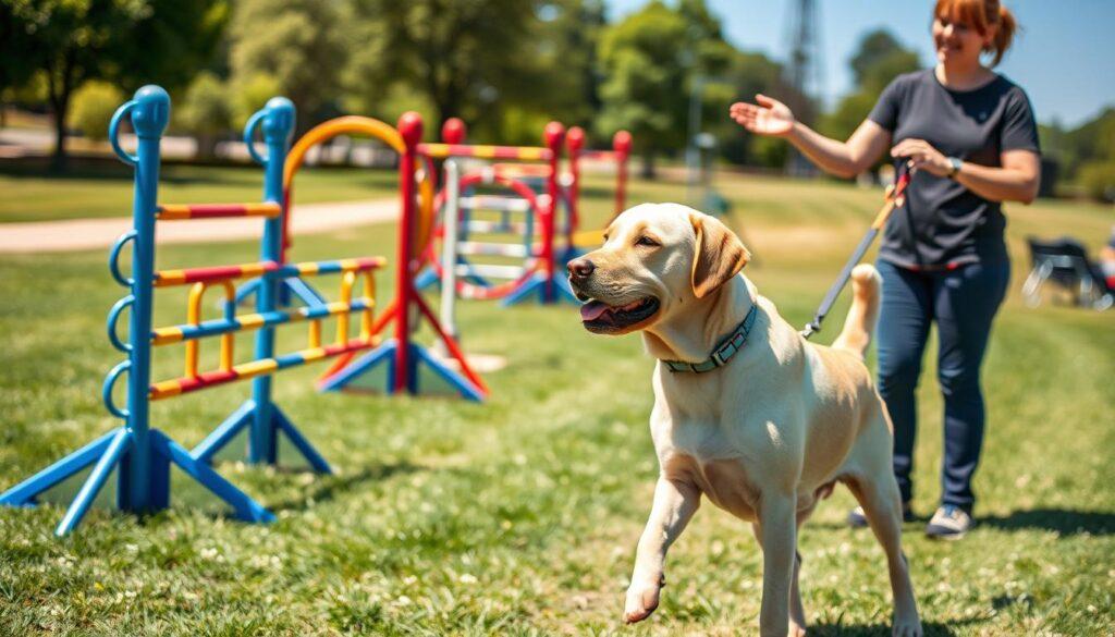
M666 552L678 539L686 524L700 505L700 491L688 482L658 479L655 486L655 505L647 520L647 528L639 538L634 572L623 606L623 620L642 621L658 608L658 596L666 583Z

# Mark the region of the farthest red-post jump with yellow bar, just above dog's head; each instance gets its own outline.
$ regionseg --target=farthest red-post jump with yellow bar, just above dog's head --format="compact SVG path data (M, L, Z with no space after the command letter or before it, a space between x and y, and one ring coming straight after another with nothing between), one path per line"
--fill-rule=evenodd
M619 131L612 135L611 151L590 151L584 148L584 131L579 126L569 129L565 137L569 151L569 193L565 196L568 213L568 234L565 245L568 247L564 261L575 259L581 252L580 248L595 248L601 243L603 228L607 228L613 219L620 215L627 207L627 183L628 183L628 160L631 157L631 134L627 131ZM604 161L615 164L615 204L612 215L603 228L598 230L580 230L581 214L581 162L582 161Z

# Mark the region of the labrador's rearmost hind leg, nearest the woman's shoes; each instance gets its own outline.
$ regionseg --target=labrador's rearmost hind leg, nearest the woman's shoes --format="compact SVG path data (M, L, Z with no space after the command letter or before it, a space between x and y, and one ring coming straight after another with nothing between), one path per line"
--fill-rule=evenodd
M910 581L910 566L902 554L902 501L899 485L894 481L889 463L878 463L870 475L850 477L847 485L855 494L871 530L886 553L886 570L894 596L895 637L921 637L921 620L918 618L918 602Z

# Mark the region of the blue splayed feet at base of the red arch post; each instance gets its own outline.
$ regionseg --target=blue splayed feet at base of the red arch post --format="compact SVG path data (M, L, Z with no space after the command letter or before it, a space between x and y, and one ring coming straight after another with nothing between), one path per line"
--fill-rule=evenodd
M395 378L397 374L397 369L395 368L395 353L398 347L398 341L394 338L385 341L376 349L349 363L343 369L321 382L318 388L322 392L345 389L371 392L381 389L386 394L395 394ZM415 344L409 344L409 347L410 356L408 357L408 364L410 373L407 377L410 379L410 383L406 388L408 394L433 393L436 389L434 382L440 382L449 390L459 394L463 398L477 403L484 399L484 392L479 387L474 385L472 380L459 371L450 369L445 363L432 356L425 347ZM433 376L429 378L430 383L426 384L426 386L419 382L420 369L423 367L433 373ZM385 371L386 374L382 377L376 377L378 371Z

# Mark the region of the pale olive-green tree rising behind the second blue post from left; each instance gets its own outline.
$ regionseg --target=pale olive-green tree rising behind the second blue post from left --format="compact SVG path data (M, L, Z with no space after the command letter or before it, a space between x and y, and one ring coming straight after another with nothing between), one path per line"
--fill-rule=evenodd
M348 62L343 11L334 0L241 0L230 25L231 86L271 78L298 108L300 132L334 115Z

